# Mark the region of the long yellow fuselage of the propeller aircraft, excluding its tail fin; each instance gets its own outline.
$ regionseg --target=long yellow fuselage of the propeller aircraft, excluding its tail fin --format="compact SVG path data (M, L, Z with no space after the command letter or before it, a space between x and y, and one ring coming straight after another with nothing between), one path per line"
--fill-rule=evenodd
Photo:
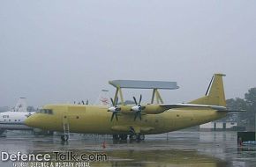
M129 132L129 127L139 127L142 134L162 134L218 120L226 115L215 110L180 108L159 114L142 115L142 120L136 121L133 120L133 114L120 114L118 121L110 121L112 113L102 106L46 105L44 109L52 109L54 114L35 113L26 120L26 124L44 130L63 131L63 119L66 116L70 132L84 134L125 134ZM146 131L143 132L143 129Z

